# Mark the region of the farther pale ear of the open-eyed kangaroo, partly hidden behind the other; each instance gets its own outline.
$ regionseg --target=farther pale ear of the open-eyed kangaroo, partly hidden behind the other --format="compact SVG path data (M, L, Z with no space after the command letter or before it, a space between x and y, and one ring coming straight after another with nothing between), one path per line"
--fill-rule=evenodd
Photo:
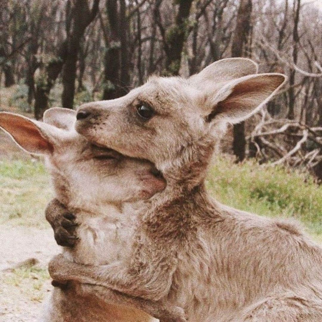
M191 84L198 87L222 87L223 83L233 79L256 74L258 65L249 58L225 58L213 62L205 67L200 73L190 77Z

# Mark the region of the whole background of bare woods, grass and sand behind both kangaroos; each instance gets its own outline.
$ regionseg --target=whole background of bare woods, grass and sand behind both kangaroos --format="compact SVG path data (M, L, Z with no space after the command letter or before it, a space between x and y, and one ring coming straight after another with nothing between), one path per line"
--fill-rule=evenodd
M288 82L229 126L209 191L242 210L294 217L322 241L321 0L0 2L0 110L36 119L227 57L249 57ZM33 321L57 251L44 219L52 187L43 160L3 131L0 189L0 321Z

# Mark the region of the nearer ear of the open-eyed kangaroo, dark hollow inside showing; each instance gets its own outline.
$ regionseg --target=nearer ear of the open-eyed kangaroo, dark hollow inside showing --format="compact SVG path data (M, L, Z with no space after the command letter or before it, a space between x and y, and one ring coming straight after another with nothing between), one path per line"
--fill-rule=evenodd
M286 81L278 73L255 74L230 81L206 96L206 121L227 120L238 123L256 113Z

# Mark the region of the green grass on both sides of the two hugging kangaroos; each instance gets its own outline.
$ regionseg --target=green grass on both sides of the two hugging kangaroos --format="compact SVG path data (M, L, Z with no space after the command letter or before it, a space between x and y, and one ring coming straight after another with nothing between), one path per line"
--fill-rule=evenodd
M322 185L283 167L218 158L207 186L221 203L269 217L294 217L322 241ZM0 223L43 228L53 193L42 161L0 161ZM48 227L48 226L47 226Z

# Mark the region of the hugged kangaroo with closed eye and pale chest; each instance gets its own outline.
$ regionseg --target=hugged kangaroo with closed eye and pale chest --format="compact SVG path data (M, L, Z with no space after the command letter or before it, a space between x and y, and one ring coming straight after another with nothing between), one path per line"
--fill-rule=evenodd
M69 109L47 110L44 122L0 113L0 127L21 148L46 156L57 198L46 216L57 242L73 246L64 248L64 256L79 264L108 264L127 252L135 208L163 190L165 182L151 162L90 144L74 130L75 121L76 112ZM77 227L62 204L76 215ZM53 212L55 208L59 212ZM113 294L102 302L95 294L84 295L79 283L53 285L62 288L53 290L41 321L156 321L124 302L113 302Z

